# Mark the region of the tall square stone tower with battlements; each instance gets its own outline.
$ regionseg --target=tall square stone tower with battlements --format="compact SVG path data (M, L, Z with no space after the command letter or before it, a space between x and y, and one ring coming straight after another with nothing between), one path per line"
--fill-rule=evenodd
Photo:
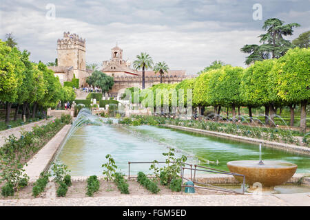
M63 33L63 39L57 41L58 66L73 67L76 78L79 78L79 86L85 85L87 72L85 61L85 39L70 32Z

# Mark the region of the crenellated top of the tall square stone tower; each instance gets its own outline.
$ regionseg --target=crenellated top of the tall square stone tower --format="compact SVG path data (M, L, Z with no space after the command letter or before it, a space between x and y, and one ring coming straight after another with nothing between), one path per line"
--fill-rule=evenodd
M57 49L84 49L85 39L82 39L77 34L70 34L70 32L63 32L63 39L58 39Z

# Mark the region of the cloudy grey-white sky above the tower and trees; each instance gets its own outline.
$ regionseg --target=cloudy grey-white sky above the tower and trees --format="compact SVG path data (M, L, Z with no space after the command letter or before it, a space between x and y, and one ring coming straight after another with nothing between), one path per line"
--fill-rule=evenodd
M255 3L262 5L262 20L253 19ZM240 47L258 44L271 17L300 23L287 38L295 39L310 30L310 0L1 0L0 39L12 32L32 61L47 63L69 31L86 39L87 63L109 60L117 42L125 59L147 52L154 62L195 74L214 60L244 67Z

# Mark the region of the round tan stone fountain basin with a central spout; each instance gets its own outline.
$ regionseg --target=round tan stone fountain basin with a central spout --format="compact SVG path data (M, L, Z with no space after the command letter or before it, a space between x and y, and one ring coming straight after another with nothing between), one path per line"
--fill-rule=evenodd
M249 191L262 186L263 191L273 190L274 186L280 186L288 181L296 172L297 165L289 162L258 160L236 160L227 163L232 173L245 175L245 183L250 186ZM243 177L234 176L242 183Z

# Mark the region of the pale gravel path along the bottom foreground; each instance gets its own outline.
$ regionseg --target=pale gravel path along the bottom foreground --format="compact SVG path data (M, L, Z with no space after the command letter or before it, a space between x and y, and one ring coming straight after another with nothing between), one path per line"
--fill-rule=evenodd
M273 195L121 195L117 197L12 199L0 206L292 206Z

